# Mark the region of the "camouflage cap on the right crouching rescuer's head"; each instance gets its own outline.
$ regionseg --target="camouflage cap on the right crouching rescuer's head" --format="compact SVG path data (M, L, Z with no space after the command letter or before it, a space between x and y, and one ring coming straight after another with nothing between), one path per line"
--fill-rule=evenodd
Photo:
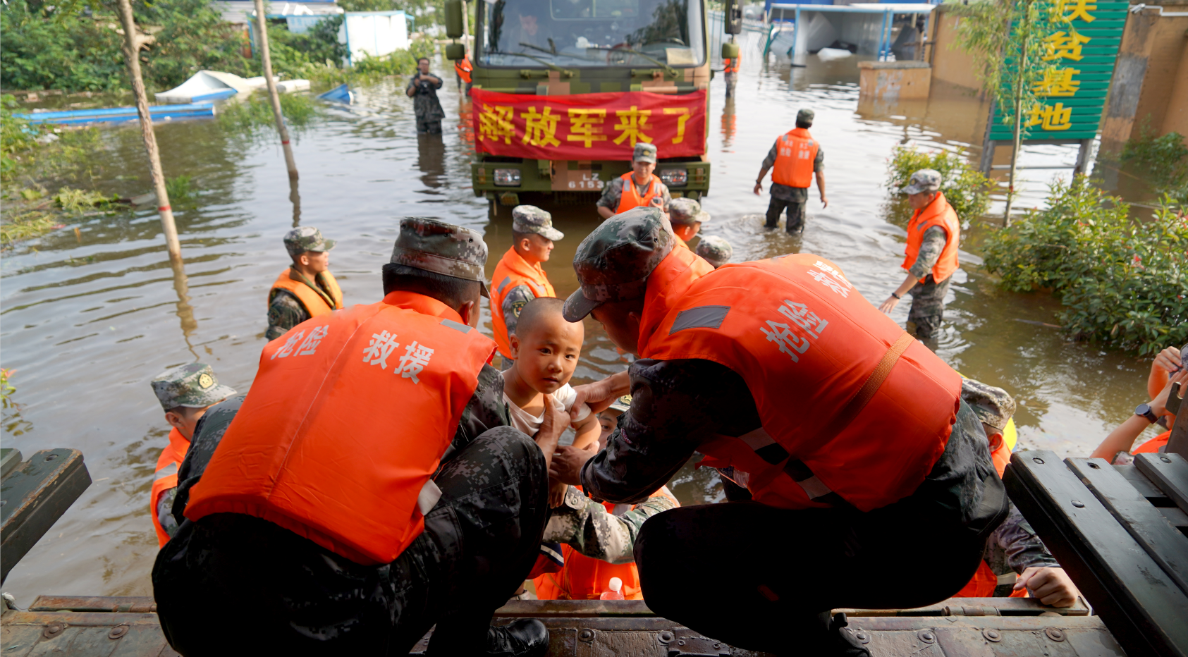
M647 277L674 244L659 208L632 208L604 221L577 245L574 271L581 289L565 299L565 321L579 322L607 302L644 296Z

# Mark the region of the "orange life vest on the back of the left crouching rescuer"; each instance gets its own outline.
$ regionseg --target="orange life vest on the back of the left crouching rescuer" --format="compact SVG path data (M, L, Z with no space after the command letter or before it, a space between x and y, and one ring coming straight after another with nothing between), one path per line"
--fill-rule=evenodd
M185 517L264 518L358 563L394 560L494 342L406 291L268 342ZM419 499L418 499L419 498Z

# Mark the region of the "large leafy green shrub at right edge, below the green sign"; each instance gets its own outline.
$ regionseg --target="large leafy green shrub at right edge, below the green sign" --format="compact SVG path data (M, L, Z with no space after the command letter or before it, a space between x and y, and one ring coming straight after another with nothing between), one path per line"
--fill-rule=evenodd
M1150 221L1083 176L1050 187L1049 207L991 234L985 266L1007 290L1053 290L1076 340L1157 353L1188 341L1188 217Z

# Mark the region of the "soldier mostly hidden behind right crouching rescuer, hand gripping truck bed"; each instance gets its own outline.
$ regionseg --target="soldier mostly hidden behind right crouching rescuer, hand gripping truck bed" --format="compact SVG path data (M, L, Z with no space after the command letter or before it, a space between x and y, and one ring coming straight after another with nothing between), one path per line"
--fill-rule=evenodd
M999 449L1006 423L1015 415L1015 399L1000 387L973 379L961 381L961 399L981 421L991 451ZM1079 593L1073 581L1013 504L1003 524L986 539L982 558L998 576L998 586L993 589L996 598L1018 598L1025 589L1031 598L1037 598L1044 605L1069 607L1076 602ZM974 582L967 585L958 596L985 594L975 593L972 588Z

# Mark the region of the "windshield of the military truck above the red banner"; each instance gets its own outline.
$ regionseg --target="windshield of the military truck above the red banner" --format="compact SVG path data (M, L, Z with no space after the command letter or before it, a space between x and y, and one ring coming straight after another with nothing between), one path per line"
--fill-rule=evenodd
M701 0L484 0L479 64L487 67L699 67Z

